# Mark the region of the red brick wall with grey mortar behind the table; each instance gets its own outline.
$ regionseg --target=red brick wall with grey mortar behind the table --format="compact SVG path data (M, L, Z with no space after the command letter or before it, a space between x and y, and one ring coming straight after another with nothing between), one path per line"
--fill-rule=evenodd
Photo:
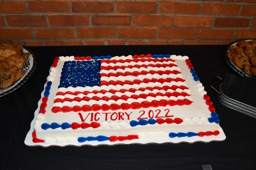
M229 44L256 38L256 0L0 1L0 40L27 46Z

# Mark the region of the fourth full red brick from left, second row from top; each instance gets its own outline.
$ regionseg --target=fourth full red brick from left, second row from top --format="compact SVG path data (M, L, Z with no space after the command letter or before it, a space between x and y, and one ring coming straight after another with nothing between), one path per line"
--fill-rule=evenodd
M134 15L133 25L171 26L173 15Z

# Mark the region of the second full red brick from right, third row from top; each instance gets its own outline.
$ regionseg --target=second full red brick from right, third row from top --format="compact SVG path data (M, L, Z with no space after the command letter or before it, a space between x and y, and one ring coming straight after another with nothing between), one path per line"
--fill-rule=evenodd
M159 38L196 38L197 29L187 29L187 28L161 28L159 33Z

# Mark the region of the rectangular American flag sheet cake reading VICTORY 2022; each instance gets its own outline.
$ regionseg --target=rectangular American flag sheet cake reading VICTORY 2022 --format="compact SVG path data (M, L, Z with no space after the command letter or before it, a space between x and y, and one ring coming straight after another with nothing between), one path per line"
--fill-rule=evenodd
M38 107L33 143L186 142L220 133L187 56L56 57Z

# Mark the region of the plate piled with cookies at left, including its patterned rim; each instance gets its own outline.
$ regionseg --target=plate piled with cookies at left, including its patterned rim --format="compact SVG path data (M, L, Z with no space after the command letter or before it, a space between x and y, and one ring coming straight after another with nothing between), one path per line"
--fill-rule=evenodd
M17 42L0 41L0 97L26 82L35 70L34 53Z

